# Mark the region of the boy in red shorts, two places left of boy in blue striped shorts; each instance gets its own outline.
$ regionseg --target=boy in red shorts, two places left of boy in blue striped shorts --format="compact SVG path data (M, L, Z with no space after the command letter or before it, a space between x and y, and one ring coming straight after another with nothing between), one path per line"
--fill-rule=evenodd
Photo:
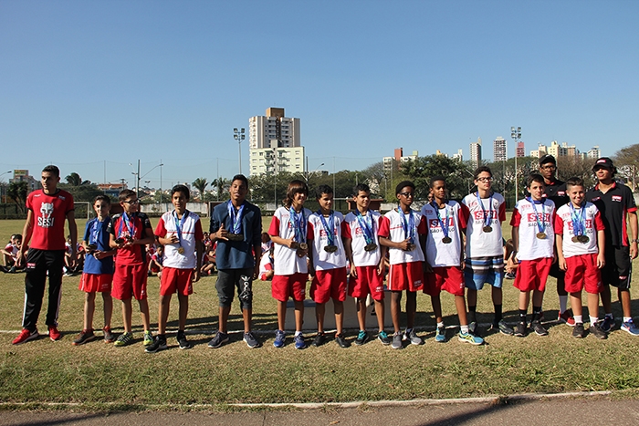
M417 290L424 287L424 247L426 223L422 213L411 209L414 200L414 183L400 182L395 188L399 201L396 209L386 213L380 223L380 244L388 247L390 271L388 288L391 290L391 317L393 317L393 349L403 348L402 340L421 345L422 338L414 332L417 312ZM406 332L400 331L402 292L406 291Z

